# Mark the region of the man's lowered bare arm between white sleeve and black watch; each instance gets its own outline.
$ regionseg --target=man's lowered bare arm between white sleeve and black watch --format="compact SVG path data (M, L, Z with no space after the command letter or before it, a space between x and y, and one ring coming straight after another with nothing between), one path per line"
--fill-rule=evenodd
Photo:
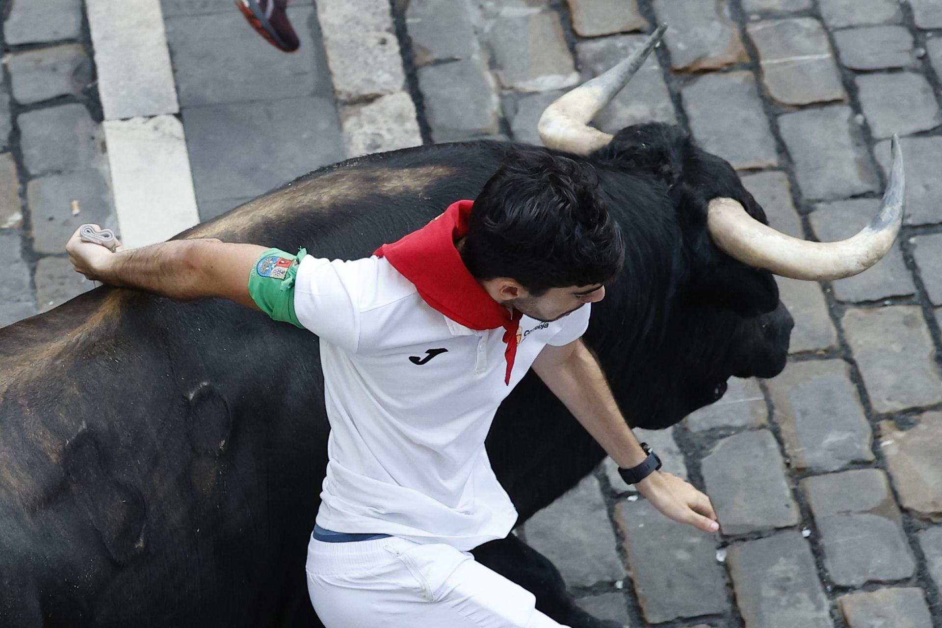
M634 467L647 458L586 346L579 343L568 360L537 374L619 466Z

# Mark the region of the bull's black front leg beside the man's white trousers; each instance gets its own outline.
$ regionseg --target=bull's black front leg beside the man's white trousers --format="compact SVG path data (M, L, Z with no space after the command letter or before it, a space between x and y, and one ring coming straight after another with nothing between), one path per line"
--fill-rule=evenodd
M533 593L537 610L564 626L622 628L618 621L598 620L579 608L553 563L513 535L479 545L471 553L480 564Z

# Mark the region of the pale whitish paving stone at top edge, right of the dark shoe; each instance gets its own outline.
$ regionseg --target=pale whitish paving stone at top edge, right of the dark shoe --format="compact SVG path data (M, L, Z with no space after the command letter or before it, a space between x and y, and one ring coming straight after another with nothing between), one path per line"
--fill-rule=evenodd
M402 91L405 72L388 0L319 0L317 17L340 100Z

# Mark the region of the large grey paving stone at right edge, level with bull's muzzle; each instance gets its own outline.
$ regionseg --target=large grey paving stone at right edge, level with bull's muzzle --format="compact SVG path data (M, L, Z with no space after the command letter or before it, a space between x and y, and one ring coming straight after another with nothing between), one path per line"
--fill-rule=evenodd
M942 401L932 338L917 306L848 310L843 327L875 411Z

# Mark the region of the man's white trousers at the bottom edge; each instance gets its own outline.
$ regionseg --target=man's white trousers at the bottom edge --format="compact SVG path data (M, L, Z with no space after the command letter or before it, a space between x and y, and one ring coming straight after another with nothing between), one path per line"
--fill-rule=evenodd
M527 589L441 543L312 538L307 589L326 628L564 628Z

